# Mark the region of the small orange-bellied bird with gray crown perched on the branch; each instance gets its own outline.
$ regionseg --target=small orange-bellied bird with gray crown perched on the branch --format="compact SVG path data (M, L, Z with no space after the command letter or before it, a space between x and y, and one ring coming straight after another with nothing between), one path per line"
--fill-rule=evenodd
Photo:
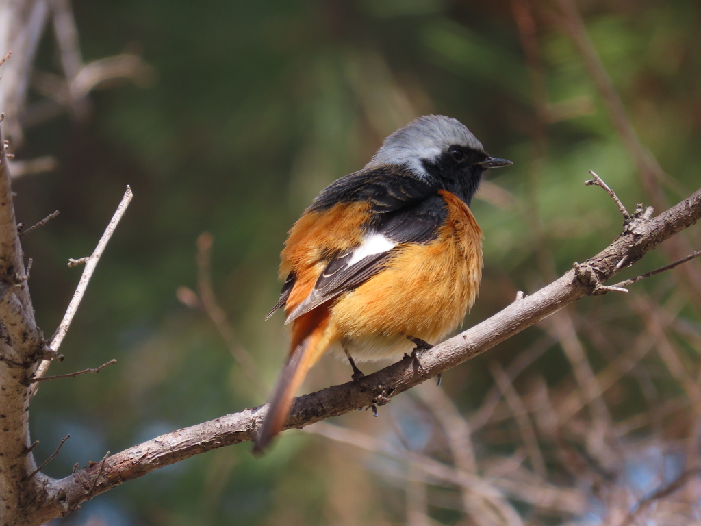
M359 381L356 361L402 358L455 330L482 277L470 203L486 170L510 164L486 154L457 119L425 115L320 192L280 255L285 282L266 320L283 308L292 338L254 452L283 428L325 353L348 358Z

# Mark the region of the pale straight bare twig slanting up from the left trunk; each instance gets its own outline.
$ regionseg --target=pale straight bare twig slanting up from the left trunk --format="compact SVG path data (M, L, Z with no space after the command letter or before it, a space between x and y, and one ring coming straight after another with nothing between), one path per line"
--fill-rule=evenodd
M91 255L88 258L88 261L86 262L85 269L83 269L83 274L81 275L81 279L78 282L78 286L76 287L76 292L74 292L71 302L68 304L68 308L66 309L66 313L64 314L60 325L58 326L56 332L51 338L50 348L53 349L53 351L57 351L61 345L61 342L63 342L63 339L66 336L66 333L68 332L68 328L70 327L71 322L73 321L73 317L76 315L76 311L78 311L78 306L83 300L83 295L85 294L86 289L88 288L90 278L93 277L93 272L95 271L95 267L97 267L97 262L100 261L100 256L102 256L104 248L107 247L107 242L109 241L109 238L111 238L112 234L114 234L114 230L116 229L117 224L123 217L133 196L134 194L132 194L131 187L127 185L127 189L124 192L124 196L122 197L122 200L119 203L117 210L112 216L112 219L109 221L109 224L107 224L107 228L104 229L104 234L102 234L100 241L97 242L97 246L93 251L93 255ZM36 372L34 373L34 380L46 375L46 370L48 370L50 363L50 360L43 360L41 362ZM30 400L36 394L37 389L39 389L38 382L36 382L36 384L30 388Z

